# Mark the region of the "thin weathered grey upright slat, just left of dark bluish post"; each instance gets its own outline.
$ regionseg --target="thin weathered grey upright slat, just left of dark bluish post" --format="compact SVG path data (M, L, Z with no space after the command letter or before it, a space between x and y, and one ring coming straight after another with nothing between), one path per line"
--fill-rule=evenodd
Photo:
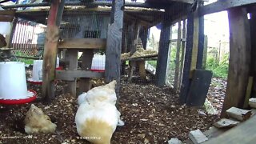
M181 43L182 43L182 22L178 22L178 38L177 38L177 49L176 49L176 61L175 61L175 75L174 75L174 90L178 90L178 85L179 85L179 65L180 65L180 48L181 48Z

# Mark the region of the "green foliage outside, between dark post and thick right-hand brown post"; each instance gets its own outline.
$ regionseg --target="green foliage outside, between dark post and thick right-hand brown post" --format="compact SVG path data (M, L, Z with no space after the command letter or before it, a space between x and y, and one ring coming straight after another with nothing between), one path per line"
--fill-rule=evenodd
M206 69L213 70L214 77L227 78L229 70L229 54L225 54L221 62L213 57L207 58Z

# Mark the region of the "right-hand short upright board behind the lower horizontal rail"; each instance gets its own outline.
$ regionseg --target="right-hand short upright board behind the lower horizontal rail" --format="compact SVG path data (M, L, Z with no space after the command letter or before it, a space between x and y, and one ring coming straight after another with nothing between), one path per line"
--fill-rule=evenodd
M82 70L90 70L92 60L94 58L94 50L83 50L82 51ZM90 90L90 77L89 78L80 78L79 80L79 91L78 95L82 94L83 92L87 92Z

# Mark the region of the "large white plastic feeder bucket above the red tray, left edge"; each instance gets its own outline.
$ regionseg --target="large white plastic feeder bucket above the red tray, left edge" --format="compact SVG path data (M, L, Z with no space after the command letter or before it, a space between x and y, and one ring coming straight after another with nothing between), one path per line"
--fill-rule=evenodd
M27 98L24 62L0 62L0 98Z

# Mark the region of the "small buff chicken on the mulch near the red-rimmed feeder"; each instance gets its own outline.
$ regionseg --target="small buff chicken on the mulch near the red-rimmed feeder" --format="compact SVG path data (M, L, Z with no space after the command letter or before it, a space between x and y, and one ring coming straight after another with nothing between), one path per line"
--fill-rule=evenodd
M32 104L26 113L25 131L27 134L54 133L56 125L50 121L49 116Z

